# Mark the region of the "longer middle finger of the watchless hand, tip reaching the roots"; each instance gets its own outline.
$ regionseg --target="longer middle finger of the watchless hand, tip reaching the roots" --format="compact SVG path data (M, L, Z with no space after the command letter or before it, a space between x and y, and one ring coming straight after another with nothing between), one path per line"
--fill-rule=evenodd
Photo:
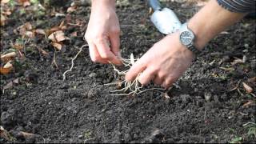
M110 61L114 64L120 65L122 62L110 51L110 46L106 42L106 39L102 39L96 43L98 54L100 54L101 58L106 61Z

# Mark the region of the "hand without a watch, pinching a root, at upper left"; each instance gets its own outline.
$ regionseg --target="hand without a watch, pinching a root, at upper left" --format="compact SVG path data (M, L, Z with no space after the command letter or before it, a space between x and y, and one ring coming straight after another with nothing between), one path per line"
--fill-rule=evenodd
M121 65L120 27L113 5L92 6L85 39L93 62Z

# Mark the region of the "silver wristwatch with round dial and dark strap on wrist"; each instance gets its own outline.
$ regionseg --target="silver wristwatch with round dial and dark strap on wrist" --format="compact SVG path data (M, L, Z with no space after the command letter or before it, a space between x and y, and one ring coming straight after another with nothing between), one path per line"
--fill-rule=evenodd
M187 22L182 24L180 28L179 40L182 45L186 46L188 50L192 51L195 55L197 55L201 51L194 46L194 39L195 35L193 31L188 28Z

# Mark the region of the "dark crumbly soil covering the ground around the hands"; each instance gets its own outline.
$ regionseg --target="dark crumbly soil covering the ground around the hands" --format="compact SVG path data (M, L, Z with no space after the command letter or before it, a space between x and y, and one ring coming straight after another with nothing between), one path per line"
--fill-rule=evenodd
M199 8L176 2L165 2L182 19L190 18ZM20 35L13 30L25 22L34 28L50 29L62 20L82 26L67 26L70 41L56 54L58 69L51 66L54 48L44 37L26 42L26 58L19 60L15 70L1 75L1 87L19 78L19 83L1 90L1 126L16 142L255 142L243 124L255 122L255 105L242 82L256 76L255 20L243 19L214 38L198 56L176 85L167 90L170 98L158 91L136 96L108 96L116 87L117 74L110 65L90 61L87 48L82 50L70 68L70 60L84 44L83 34L90 16L90 5L78 6L66 14L70 1L63 6L49 6L46 14L14 10L6 26L1 27L1 54L11 48ZM53 10L66 14L55 17ZM149 20L146 1L122 1L117 10L122 29L122 56L142 56L164 35ZM51 15L52 14L52 15ZM74 31L77 37L71 37ZM46 50L43 55L38 48ZM235 58L246 56L246 62L231 65ZM223 70L232 68L232 70ZM239 82L239 85L238 85ZM247 82L255 89L255 83ZM238 90L232 90L238 85ZM232 91L230 91L232 90ZM255 94L255 91L253 92ZM24 137L25 131L34 134ZM10 142L0 138L0 142Z

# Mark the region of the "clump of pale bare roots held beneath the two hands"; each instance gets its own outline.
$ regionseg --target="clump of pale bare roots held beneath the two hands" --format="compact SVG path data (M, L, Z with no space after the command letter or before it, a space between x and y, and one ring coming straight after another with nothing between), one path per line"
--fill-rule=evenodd
M138 60L138 58L135 60L134 59L134 54L130 54L130 59L126 58L121 58L122 63L125 67L128 67L128 70L130 69L131 66L134 65L135 61ZM118 73L119 76L124 77L128 70L118 70L114 64L111 64L114 68L114 71ZM134 79L132 82L127 82L126 80L123 80L122 82L112 82L112 83L107 83L105 84L106 86L110 85L117 85L117 86L124 86L121 90L112 90L110 95L118 95L118 96L123 96L123 95L136 95L136 94L142 94L143 92L146 92L147 90L164 90L164 89L159 89L159 88L150 88L150 89L143 89L143 85L138 82L138 78L142 73L138 74L137 77ZM127 94L126 92L129 91ZM120 94L118 94L120 93Z

